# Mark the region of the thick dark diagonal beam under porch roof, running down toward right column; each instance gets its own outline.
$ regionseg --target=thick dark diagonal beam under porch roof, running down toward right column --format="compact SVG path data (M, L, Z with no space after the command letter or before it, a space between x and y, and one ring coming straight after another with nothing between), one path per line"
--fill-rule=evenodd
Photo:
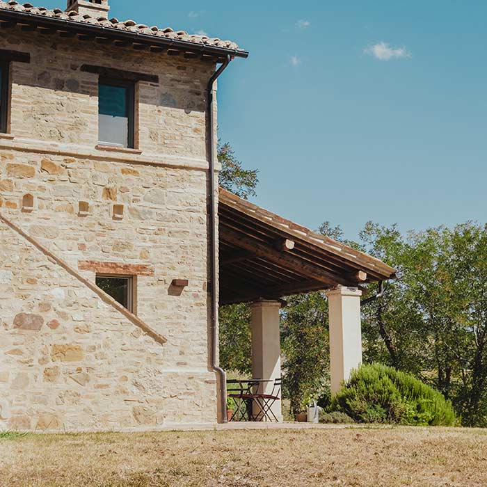
M328 286L337 284L350 285L350 281L345 278L335 276L334 274L325 271L318 266L314 266L304 260L299 259L299 257L282 253L262 241L250 239L239 232L230 230L222 225L220 226L220 238L234 244L239 248L250 250L251 252L255 253L257 257L268 259L269 261L275 262L276 264L279 264L285 268L288 267L289 269L298 272L301 276L307 276L308 278L319 280Z

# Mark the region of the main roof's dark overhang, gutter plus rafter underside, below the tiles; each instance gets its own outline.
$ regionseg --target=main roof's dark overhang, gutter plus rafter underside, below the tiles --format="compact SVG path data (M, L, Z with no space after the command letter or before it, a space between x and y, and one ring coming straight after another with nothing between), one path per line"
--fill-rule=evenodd
M198 42L189 42L157 35L123 31L107 26L72 22L57 17L45 17L29 12L0 9L0 28L20 26L24 31L40 31L45 34L58 33L61 37L78 36L81 40L93 40L99 44L114 43L120 47L133 47L138 51L163 52L168 54L184 54L186 58L201 58L206 61L223 62L226 56L247 58L248 52L241 49L227 49Z

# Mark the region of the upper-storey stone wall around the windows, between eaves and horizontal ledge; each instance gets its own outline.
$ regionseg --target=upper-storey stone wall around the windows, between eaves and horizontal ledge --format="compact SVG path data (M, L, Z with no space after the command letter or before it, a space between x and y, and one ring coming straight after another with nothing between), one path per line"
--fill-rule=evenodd
M159 159L206 162L205 91L214 65L182 56L17 29L0 31L0 49L29 52L31 63L13 63L10 131L17 137L74 147L98 141L98 75L81 66L155 74L159 85L136 83L136 146ZM79 148L77 149L79 150Z

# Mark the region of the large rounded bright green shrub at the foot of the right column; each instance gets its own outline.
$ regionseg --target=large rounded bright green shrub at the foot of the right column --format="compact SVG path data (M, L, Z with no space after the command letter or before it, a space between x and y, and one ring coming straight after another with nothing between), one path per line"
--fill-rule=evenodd
M452 426L452 403L420 380L381 364L352 372L333 399L337 410L362 423Z

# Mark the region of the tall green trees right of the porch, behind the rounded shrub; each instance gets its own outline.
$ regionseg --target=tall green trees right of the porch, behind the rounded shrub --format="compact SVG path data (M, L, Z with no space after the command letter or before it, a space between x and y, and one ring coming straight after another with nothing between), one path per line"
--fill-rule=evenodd
M366 361L412 372L451 399L467 426L487 426L487 227L402 236L369 223L367 249L398 269L363 308Z

